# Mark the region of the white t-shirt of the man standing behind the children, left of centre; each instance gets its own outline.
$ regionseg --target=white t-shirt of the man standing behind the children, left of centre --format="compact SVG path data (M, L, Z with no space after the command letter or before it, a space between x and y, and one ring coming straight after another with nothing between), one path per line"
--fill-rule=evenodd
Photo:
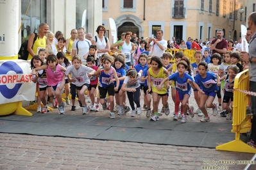
M76 48L76 45L78 49ZM83 64L86 64L86 59L83 59L83 56L85 56L85 54L89 52L90 45L92 45L92 43L87 39L83 41L78 39L73 42L72 49L76 50L76 54L79 54L81 56L81 61L83 62Z

